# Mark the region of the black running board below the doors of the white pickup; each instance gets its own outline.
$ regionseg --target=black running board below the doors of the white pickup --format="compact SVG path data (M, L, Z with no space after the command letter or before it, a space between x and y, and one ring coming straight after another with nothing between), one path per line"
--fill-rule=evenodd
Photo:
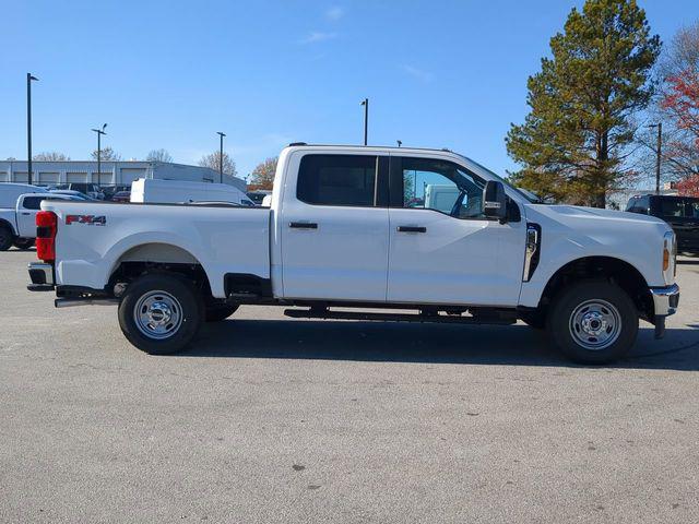
M496 314L461 317L451 314L375 313L367 311L331 311L329 309L285 309L284 314L293 319L369 320L382 322L441 322L448 324L498 324L510 325L514 317Z

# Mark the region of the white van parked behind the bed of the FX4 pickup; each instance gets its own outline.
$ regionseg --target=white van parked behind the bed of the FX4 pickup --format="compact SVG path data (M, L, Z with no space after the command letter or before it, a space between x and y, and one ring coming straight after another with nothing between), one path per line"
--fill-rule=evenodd
M254 206L254 203L237 188L226 183L189 182L139 178L131 183L131 202L149 204L189 202L232 202Z

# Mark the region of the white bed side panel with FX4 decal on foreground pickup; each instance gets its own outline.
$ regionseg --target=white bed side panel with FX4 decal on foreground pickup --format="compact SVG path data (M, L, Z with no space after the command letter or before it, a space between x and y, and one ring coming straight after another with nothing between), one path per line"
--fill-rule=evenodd
M56 284L104 288L121 261L203 266L214 297L228 273L270 277L270 210L209 204L44 202L58 215Z

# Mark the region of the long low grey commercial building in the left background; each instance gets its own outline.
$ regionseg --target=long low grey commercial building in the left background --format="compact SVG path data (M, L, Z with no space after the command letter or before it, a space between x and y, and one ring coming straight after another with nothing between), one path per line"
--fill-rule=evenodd
M97 172L97 162L32 162L32 183L58 186L61 183L92 182L99 186L130 184L138 178L162 180L189 180L194 182L218 182L218 171L209 167L188 166L164 162L119 160L103 162ZM0 160L0 182L28 181L26 160ZM223 183L246 190L245 180L223 177Z

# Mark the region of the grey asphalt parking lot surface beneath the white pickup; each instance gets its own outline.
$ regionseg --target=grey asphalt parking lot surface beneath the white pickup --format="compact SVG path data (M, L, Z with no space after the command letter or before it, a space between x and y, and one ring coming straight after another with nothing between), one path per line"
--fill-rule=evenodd
M699 522L699 259L667 336L572 366L524 325L242 308L180 356L0 253L1 522Z

